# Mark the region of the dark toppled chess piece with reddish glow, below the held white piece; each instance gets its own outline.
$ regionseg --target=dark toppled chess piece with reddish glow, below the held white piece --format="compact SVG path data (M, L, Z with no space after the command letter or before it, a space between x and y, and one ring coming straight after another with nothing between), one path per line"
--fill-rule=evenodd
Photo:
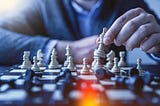
M103 68L98 68L95 70L95 73L96 73L96 77L99 79L99 80L102 80L102 79L110 79L111 77L114 77L115 75L108 71L108 70L105 70Z

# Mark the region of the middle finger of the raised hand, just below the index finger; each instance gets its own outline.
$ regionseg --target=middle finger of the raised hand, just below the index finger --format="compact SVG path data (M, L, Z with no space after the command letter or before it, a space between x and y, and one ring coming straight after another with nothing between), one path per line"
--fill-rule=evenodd
M143 21L142 21L143 20ZM146 27L144 24L151 22L151 18L146 13L142 13L141 15L129 20L121 29L119 34L116 37L115 44L117 46L121 46L125 43L130 37L132 37L134 32L140 27L143 32L146 31ZM144 26L143 26L144 25ZM141 28L142 27L142 28ZM152 29L152 28L151 28ZM139 32L139 31L138 31ZM137 33L136 33L137 34ZM131 39L132 40L132 39ZM135 40L134 40L135 41Z

